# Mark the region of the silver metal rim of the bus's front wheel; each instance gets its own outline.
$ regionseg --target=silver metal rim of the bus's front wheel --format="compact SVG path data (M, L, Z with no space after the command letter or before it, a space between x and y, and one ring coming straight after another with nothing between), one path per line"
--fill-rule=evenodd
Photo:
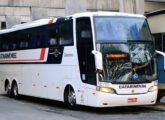
M68 102L71 106L74 106L76 103L76 94L71 87L69 87Z

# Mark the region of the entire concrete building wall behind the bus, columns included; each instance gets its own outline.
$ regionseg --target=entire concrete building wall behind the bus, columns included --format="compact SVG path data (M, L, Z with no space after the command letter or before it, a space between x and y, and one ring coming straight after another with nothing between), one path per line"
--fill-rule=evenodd
M21 22L85 11L143 14L143 5L144 0L0 0L0 22L11 27Z

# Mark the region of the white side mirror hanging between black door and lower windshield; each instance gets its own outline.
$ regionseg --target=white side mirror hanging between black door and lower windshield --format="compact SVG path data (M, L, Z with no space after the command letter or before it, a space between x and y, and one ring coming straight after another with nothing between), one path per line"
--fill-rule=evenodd
M92 50L92 54L95 56L95 64L98 70L103 70L102 53L96 50Z

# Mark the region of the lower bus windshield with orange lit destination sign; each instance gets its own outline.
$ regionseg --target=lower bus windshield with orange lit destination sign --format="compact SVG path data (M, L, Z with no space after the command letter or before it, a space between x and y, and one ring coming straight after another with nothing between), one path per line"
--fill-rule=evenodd
M156 55L152 43L97 44L103 56L100 81L142 83L157 79Z

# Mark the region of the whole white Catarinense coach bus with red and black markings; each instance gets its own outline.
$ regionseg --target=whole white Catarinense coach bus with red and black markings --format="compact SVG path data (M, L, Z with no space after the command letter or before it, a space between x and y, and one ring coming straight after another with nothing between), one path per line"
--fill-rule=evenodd
M0 31L0 88L92 107L154 104L155 48L146 18L87 12Z

